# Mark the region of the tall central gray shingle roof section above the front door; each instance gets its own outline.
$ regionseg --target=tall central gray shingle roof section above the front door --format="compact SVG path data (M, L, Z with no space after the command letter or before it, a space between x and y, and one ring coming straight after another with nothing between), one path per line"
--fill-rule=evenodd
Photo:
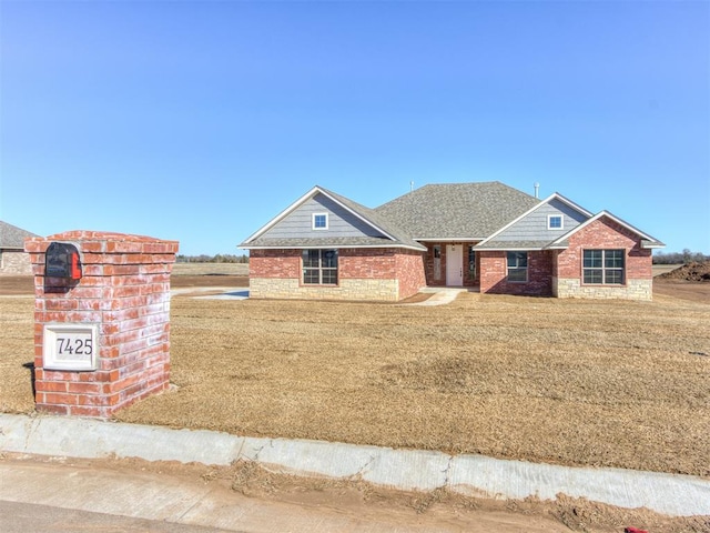
M498 181L424 185L375 209L418 241L484 239L539 203Z

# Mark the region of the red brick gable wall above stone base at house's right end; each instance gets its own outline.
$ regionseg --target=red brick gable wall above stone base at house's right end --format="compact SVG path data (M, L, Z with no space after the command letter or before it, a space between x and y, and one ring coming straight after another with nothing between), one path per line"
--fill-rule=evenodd
M651 250L641 248L637 234L602 217L569 238L569 247L558 254L558 278L581 279L582 251L591 249L626 250L626 280L650 280L653 275Z

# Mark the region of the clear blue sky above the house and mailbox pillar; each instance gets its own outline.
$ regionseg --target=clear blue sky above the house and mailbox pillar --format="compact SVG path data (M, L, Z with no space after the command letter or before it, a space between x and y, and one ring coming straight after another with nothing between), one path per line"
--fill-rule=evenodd
M710 2L0 1L0 219L236 245L501 181L710 253Z

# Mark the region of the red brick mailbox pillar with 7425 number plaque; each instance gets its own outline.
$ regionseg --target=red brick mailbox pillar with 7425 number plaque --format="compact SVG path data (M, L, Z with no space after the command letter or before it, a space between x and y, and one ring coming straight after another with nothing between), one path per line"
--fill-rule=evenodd
M27 239L24 250L34 273L39 411L109 418L169 386L176 241L70 231Z

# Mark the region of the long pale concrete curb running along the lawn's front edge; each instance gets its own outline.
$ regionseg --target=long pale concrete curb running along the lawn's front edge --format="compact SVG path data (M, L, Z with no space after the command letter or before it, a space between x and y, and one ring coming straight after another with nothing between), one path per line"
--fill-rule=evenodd
M541 500L554 500L564 493L620 507L647 507L673 516L710 514L710 481L690 475L569 467L320 441L253 439L93 419L0 413L0 450L215 465L246 459L276 472L359 477L405 491L447 487L477 496Z

